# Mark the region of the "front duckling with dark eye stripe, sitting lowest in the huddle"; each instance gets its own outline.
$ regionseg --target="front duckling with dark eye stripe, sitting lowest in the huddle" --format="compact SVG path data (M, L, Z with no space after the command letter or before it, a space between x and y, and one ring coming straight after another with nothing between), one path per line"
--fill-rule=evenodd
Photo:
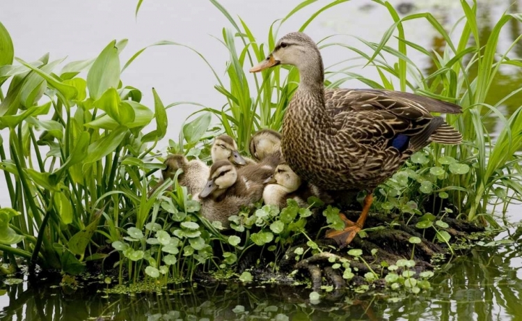
M201 214L209 221L220 221L230 226L228 217L237 214L242 206L251 206L260 200L264 185L249 181L228 160L215 162L210 167L207 184L198 198Z

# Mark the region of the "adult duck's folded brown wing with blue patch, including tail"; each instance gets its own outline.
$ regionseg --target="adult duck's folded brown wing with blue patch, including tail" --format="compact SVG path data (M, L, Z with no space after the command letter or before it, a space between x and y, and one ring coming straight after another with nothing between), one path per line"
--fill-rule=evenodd
M457 144L461 134L430 111L459 113L450 102L397 91L335 89L325 91L333 127L361 145L377 150L419 150L431 141Z

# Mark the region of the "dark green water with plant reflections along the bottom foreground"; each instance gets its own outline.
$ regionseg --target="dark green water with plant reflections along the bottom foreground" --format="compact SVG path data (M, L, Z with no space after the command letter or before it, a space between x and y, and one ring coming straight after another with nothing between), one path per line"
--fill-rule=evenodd
M74 291L49 286L49 281L2 285L0 295L6 290L9 299L0 321L510 320L520 314L522 299L522 228L509 237L519 242L480 247L445 265L432 279L432 290L418 296L331 293L310 304L311 290L303 287L198 283L194 288L185 283L161 295L103 298L93 285Z

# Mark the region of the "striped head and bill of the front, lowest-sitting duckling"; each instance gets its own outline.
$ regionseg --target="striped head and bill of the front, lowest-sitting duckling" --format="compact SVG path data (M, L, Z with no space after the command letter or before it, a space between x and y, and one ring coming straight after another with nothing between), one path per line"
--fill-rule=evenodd
M207 198L212 195L217 197L223 194L228 187L235 184L237 171L235 166L228 160L215 162L210 167L210 174L205 188L199 194L199 198Z

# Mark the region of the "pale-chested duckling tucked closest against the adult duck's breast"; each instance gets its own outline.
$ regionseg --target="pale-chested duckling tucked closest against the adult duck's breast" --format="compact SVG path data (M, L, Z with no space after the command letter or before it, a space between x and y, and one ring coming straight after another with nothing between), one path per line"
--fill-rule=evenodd
M268 185L264 187L263 201L268 205L285 208L287 199L292 198L300 208L306 208L310 196L315 196L326 204L333 203L333 198L329 194L313 184L303 182L286 163L279 164L274 175L267 178L265 183Z

